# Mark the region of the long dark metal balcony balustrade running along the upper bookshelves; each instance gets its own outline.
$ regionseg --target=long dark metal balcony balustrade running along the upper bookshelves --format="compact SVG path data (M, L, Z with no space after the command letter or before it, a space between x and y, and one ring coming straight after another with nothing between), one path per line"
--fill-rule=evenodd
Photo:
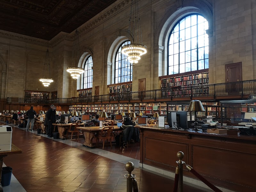
M215 99L222 96L239 96L256 94L256 80L193 85L186 87L172 87L165 89L157 89L140 92L125 92L97 96L84 96L72 98L56 98L56 99L33 99L33 98L13 98L8 97L6 102L20 104L79 104L79 103L99 103L99 102L120 102L126 101L143 101L143 100L161 100L161 99L193 99L210 97Z

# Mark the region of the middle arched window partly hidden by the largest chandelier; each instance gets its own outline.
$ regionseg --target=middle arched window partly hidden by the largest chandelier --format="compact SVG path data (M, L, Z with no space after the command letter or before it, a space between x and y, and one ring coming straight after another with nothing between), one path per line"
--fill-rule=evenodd
M129 62L127 56L121 53L122 46L131 44L125 41L120 45L116 52L115 58L115 83L124 83L132 81L132 63Z

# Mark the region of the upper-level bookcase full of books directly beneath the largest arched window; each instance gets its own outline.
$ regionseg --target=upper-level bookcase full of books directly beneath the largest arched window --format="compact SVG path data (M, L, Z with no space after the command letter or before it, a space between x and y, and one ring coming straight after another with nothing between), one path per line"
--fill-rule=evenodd
M161 88L165 89L162 92L164 97L172 94L176 97L189 97L191 95L191 86L193 85L206 85L193 87L194 96L200 96L201 93L209 93L209 87L207 86L209 84L208 69L161 76L159 78L161 79Z

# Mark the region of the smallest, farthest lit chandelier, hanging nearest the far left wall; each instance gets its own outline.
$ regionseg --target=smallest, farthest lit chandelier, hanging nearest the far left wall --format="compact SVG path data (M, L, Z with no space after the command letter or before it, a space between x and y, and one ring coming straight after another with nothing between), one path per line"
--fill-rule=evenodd
M41 77L39 81L41 81L45 87L48 87L50 83L53 82L51 78L51 69L50 69L49 42L47 45L47 51L46 51L45 60L44 60L43 77Z

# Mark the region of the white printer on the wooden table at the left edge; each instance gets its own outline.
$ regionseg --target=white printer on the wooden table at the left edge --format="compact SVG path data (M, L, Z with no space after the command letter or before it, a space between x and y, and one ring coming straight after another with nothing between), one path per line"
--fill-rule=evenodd
M11 151L12 148L12 127L0 125L0 151Z

